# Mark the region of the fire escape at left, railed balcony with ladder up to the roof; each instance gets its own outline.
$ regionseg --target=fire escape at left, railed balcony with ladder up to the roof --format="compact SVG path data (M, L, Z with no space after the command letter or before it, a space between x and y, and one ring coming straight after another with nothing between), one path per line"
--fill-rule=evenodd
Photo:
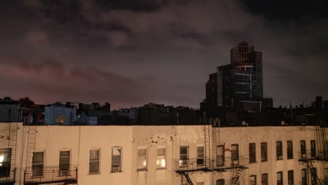
M78 170L77 167L70 165L68 168L62 169L59 166L43 166L36 165L40 158L34 158L34 149L36 142L36 124L31 121L31 113L27 119L27 157L26 169L24 172L24 184L77 184ZM39 120L39 115L38 115ZM43 163L43 155L41 157Z

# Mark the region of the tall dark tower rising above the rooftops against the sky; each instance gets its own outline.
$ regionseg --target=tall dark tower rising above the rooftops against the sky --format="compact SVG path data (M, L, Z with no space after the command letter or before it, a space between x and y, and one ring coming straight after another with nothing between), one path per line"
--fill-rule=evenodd
M262 53L242 41L231 49L231 63L217 67L217 72L210 74L206 83L206 109L261 111L263 102Z

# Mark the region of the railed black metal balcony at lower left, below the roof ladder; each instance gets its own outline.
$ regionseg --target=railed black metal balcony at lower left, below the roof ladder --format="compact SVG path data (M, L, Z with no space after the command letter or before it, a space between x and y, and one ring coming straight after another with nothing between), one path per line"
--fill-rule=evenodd
M38 167L32 169L29 167L24 173L24 184L77 184L78 169L76 166L70 166L69 169L59 169L59 167Z

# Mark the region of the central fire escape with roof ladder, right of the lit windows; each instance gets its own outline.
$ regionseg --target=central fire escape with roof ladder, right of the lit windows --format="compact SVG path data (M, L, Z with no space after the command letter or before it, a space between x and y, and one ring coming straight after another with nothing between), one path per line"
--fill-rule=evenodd
M206 120L206 118L205 118ZM239 154L236 153L237 158L224 158L224 145L221 151L218 151L217 146L220 146L219 142L219 118L210 118L208 124L204 121L204 158L197 159L182 159L175 161L175 172L182 177L181 184L196 184L193 179L194 173L207 173L207 172L228 172L232 170L232 184L236 185L240 182L240 176L247 169L247 159L239 158ZM212 129L211 129L212 128ZM212 133L211 133L212 131ZM212 149L210 149L212 147ZM221 152L221 156L218 153Z

